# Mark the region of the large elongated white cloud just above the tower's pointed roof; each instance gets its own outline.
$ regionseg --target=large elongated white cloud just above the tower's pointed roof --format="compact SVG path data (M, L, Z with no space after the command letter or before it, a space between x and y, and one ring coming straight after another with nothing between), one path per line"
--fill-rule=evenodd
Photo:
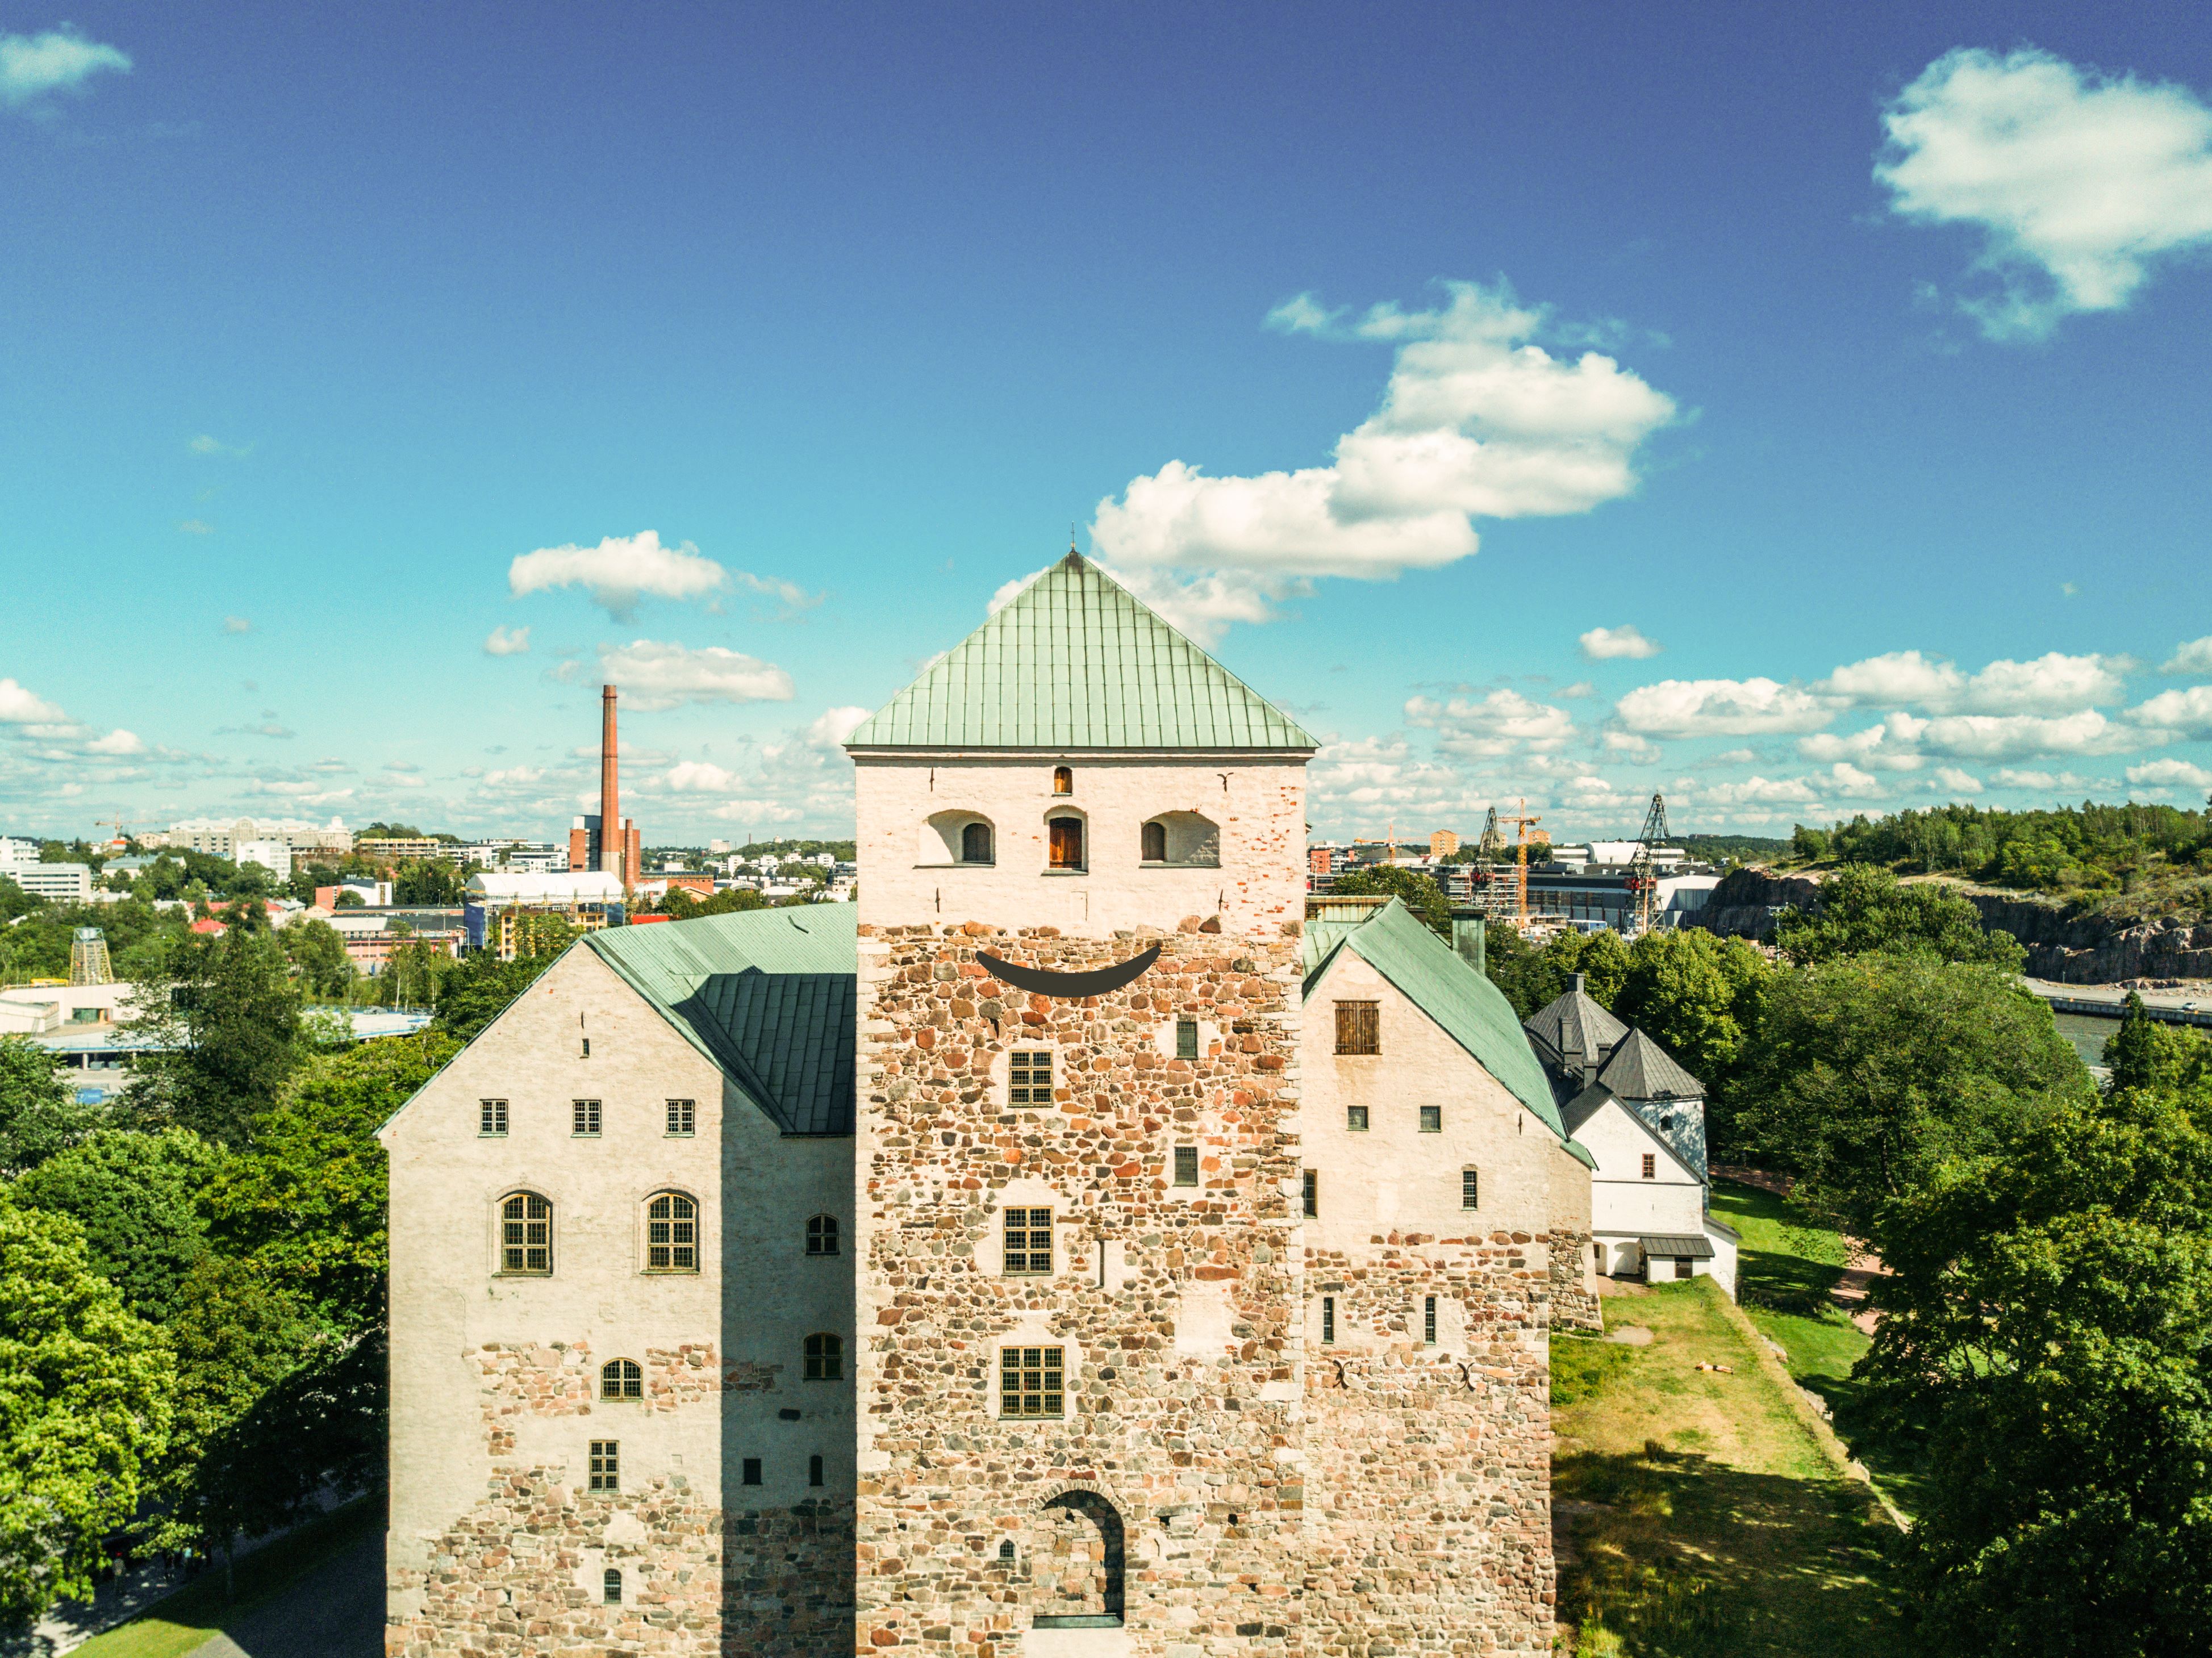
M1294 334L1391 340L1383 407L1336 440L1334 464L1208 478L1172 460L1102 500L1099 557L1121 566L1389 579L1475 550L1475 517L1586 513L1635 489L1630 458L1674 402L1613 358L1553 358L1546 325L1504 290L1447 283L1433 312L1376 305L1352 329L1312 296L1279 305Z

